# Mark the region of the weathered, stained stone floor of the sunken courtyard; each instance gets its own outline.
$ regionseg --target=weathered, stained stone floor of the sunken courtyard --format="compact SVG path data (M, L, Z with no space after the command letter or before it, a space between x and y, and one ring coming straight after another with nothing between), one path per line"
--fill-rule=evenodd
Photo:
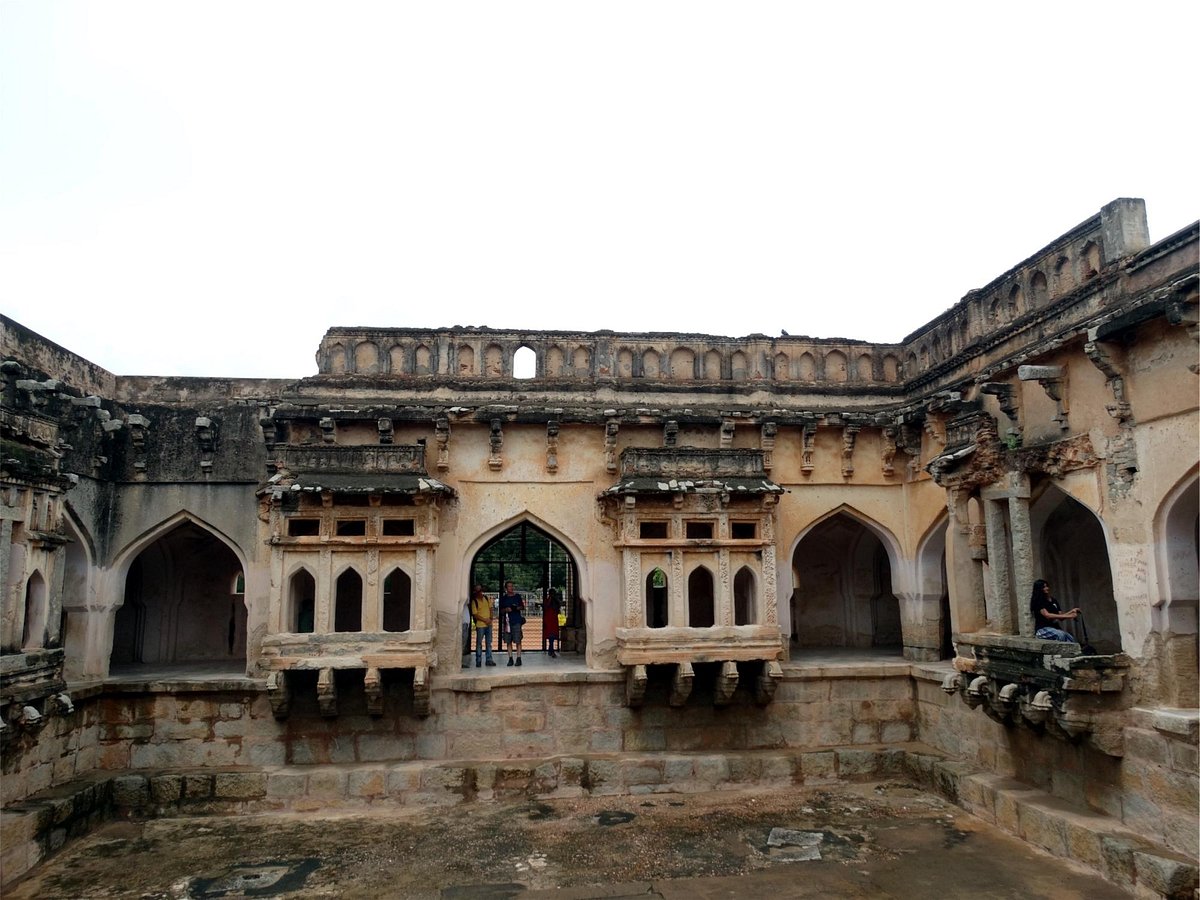
M1128 896L899 782L110 822L38 898Z

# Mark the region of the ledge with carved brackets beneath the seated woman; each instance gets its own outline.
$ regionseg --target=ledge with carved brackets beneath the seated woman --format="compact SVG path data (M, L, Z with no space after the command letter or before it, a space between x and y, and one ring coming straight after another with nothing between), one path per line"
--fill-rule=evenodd
M947 694L1004 726L1124 755L1121 714L1130 703L1132 665L1124 654L1085 656L1075 643L1015 635L954 635L954 643L960 655L956 673L942 683Z

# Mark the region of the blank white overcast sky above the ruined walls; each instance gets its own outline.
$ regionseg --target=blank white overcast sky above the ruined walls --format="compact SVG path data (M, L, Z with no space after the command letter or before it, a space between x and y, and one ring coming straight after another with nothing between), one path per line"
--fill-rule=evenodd
M1200 4L0 0L0 311L122 374L330 325L896 341L1200 214Z

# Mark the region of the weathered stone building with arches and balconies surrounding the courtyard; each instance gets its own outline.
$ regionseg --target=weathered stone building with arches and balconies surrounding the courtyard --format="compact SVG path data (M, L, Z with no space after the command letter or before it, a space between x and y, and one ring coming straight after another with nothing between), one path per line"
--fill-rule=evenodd
M895 344L332 328L312 377L160 378L0 319L4 877L113 804L869 760L1170 893L1198 842L1198 227L1151 244L1118 199ZM463 655L470 584L505 571L563 593L554 665ZM1034 637L1039 577L1078 643ZM29 811L100 782L82 822Z

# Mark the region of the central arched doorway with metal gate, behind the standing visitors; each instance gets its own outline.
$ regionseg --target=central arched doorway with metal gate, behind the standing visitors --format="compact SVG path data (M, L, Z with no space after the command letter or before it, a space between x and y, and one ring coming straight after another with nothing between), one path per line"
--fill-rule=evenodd
M528 521L496 535L470 560L470 584L484 586L494 614L504 584L510 581L526 604L526 624L521 636L523 653L542 649L542 599L547 590L558 592L565 614L565 623L559 628L559 650L570 653L582 649L584 623L580 570L562 541ZM559 622L563 623L562 616ZM497 618L497 626L492 629L497 648L506 640L504 629L506 623Z

